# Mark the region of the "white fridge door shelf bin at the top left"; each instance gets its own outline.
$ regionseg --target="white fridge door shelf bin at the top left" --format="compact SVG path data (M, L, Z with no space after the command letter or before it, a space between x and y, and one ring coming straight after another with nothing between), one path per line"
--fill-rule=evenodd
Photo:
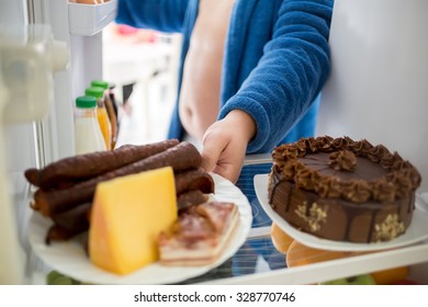
M103 30L116 15L117 0L101 4L68 3L70 33L92 36Z

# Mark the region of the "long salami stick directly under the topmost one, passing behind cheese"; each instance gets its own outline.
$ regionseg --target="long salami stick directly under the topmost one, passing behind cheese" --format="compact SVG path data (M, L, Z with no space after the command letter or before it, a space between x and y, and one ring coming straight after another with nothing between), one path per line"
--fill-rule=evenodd
M167 166L172 167L174 172L180 172L188 169L200 168L201 162L202 158L198 149L192 144L183 141L162 152L89 179L67 190L37 190L34 194L35 203L33 204L33 208L38 209L42 215L49 217L85 202L91 202L97 184L100 182Z

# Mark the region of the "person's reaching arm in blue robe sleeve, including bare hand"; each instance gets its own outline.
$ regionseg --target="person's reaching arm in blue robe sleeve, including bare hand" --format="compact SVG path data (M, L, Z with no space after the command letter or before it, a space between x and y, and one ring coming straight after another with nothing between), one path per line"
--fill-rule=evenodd
M232 182L246 152L273 149L304 115L329 72L333 1L283 1L272 39L203 139L203 167Z

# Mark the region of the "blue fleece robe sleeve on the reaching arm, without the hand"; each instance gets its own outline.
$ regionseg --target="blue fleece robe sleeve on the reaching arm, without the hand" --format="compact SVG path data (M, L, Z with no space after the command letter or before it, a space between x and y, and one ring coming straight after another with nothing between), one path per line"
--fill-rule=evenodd
M311 106L329 72L333 1L285 0L272 39L239 91L221 110L247 112L256 135L247 152L268 152Z

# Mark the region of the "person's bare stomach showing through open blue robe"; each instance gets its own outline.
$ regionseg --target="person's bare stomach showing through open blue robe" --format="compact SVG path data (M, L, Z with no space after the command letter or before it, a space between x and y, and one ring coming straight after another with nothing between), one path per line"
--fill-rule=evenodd
M181 84L179 114L189 135L201 141L219 111L226 30L234 0L201 0Z

